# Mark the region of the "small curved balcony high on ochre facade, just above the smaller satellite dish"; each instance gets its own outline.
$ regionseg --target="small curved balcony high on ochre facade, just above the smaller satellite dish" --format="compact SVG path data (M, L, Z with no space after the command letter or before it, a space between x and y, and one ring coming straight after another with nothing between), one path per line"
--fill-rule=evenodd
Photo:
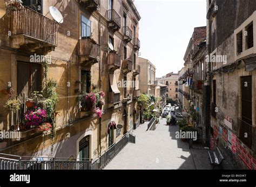
M114 9L107 10L107 21L109 28L111 28L113 32L121 28L121 17Z

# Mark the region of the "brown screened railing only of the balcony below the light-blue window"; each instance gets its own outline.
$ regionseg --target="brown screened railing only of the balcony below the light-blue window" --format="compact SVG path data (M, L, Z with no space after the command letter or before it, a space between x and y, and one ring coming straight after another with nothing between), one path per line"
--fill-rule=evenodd
M91 39L81 39L78 41L78 55L97 59L100 56L100 46Z

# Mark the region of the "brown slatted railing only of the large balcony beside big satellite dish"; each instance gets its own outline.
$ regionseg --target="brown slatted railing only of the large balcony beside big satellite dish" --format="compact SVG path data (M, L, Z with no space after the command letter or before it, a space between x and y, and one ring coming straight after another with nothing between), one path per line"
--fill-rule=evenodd
M26 35L33 39L57 46L56 21L26 6L11 12L11 35Z

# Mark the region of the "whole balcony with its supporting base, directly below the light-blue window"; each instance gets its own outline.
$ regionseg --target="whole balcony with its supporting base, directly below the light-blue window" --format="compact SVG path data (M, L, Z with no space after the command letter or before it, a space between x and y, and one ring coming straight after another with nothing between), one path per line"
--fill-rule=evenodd
M97 63L100 56L100 46L91 39L78 40L78 56L80 63Z

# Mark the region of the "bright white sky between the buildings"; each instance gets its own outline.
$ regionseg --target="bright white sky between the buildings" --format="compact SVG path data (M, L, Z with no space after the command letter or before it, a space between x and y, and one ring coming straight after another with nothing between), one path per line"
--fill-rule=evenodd
M140 57L156 66L156 77L178 73L194 27L206 26L206 0L135 0Z

